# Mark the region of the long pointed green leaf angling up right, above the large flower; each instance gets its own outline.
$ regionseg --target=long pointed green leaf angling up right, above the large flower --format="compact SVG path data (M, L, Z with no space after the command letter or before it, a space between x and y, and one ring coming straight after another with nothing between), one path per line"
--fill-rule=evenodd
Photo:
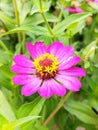
M80 22L81 20L86 19L88 16L90 16L91 13L81 13L81 14L72 14L68 17L66 17L65 20L58 23L54 29L53 32L56 32L56 35L60 35L66 28L68 28L71 24Z

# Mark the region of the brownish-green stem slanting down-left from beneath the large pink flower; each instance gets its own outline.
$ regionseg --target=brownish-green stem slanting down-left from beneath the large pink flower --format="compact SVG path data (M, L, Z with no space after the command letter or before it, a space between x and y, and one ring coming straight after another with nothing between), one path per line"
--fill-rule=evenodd
M60 108L63 106L63 104L67 101L69 96L71 95L72 92L68 92L65 97L59 102L58 106L54 109L54 111L50 114L50 116L45 120L43 125L47 125L50 120L55 116L55 114L60 110Z

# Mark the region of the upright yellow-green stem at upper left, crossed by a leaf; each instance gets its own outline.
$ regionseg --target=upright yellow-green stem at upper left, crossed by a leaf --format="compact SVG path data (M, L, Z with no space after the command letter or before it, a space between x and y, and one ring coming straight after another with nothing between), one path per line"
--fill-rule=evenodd
M16 0L13 0L13 5L14 5L14 10L15 10L16 23L17 23L17 26L20 26L19 12L18 12ZM18 33L18 41L19 41L19 43L21 42L21 34L20 33Z

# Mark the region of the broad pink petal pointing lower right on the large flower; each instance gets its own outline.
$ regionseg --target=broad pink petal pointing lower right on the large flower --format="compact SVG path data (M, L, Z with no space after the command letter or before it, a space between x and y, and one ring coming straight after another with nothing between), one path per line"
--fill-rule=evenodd
M79 91L81 88L81 82L75 77L57 75L56 79L61 82L65 88L73 92Z

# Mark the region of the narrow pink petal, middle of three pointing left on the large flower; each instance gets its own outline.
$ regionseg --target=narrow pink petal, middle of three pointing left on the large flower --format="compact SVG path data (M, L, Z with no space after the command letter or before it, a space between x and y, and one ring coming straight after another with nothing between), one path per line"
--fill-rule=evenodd
M11 70L13 72L21 73L21 74L33 74L33 73L35 73L35 69L22 67L22 66L19 66L17 64L11 66Z

